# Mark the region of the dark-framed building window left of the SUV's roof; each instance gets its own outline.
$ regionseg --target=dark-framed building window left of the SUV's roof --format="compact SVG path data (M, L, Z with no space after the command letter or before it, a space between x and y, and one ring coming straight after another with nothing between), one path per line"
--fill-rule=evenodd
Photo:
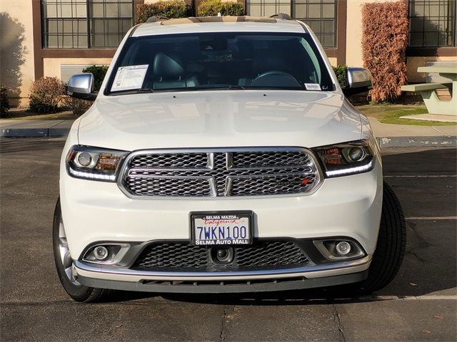
M134 24L132 0L41 0L44 48L115 48Z

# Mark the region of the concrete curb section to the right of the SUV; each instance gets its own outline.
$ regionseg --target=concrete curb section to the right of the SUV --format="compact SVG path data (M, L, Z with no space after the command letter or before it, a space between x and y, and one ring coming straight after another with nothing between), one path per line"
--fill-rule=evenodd
M376 138L381 148L386 147L457 147L457 137L378 137Z

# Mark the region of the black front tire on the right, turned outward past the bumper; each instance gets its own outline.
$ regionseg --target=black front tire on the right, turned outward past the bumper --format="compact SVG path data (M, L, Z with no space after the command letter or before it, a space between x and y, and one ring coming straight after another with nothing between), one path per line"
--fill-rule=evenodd
M387 286L400 269L406 249L406 223L398 197L390 185L383 183L383 207L378 243L368 278L360 284L363 294Z

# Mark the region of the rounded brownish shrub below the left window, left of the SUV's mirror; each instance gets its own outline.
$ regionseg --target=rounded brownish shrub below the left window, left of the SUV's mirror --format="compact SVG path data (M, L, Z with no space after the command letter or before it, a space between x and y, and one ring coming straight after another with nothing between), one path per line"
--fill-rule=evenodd
M64 85L59 78L41 77L30 87L29 110L34 113L56 113L64 93Z

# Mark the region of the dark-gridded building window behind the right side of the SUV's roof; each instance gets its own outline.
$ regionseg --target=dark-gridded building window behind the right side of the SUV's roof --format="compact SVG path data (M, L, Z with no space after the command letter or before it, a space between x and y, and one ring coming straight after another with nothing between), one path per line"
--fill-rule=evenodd
M246 0L250 16L285 13L308 24L326 48L336 46L336 0Z

